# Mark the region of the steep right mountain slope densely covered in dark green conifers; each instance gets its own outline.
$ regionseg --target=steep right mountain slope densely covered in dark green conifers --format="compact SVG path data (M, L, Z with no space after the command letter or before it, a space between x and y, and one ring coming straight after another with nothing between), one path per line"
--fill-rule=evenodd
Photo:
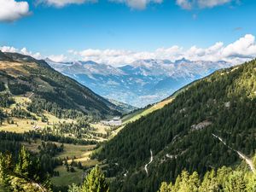
M241 159L233 149L251 157L255 108L254 60L189 85L164 108L126 125L96 155L108 164L108 177L116 178L113 191L156 191L184 169L202 176L235 165Z

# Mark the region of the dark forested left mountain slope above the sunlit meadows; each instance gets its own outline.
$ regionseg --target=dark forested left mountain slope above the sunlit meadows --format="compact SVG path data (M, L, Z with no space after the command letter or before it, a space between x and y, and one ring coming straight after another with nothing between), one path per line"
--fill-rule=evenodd
M0 91L29 97L33 113L46 110L67 118L84 113L96 119L119 114L113 103L27 55L0 53Z

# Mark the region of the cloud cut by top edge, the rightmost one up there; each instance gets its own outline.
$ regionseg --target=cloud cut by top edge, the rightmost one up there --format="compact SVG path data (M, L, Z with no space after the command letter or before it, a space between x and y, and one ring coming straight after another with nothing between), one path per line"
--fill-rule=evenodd
M176 0L177 5L183 9L213 8L215 6L231 2L234 2L234 0Z

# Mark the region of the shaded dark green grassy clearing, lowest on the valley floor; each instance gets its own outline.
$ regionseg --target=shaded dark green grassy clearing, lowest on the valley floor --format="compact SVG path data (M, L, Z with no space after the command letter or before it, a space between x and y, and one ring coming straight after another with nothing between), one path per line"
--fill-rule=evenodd
M72 183L79 184L82 182L83 170L75 168L76 172L67 172L65 166L58 166L55 171L60 173L59 177L52 177L51 182L56 186L66 186Z

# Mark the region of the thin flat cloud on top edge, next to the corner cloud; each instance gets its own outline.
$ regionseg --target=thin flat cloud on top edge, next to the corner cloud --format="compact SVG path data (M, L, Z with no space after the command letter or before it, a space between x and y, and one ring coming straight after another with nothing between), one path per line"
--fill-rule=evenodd
M68 4L96 3L97 0L38 0L38 3L45 3L49 6L62 8Z

